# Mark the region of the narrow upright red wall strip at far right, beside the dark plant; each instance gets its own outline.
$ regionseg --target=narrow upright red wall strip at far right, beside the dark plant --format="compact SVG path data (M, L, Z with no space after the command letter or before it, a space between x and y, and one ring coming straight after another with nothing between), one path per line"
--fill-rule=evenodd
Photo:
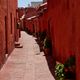
M80 80L80 1L75 0L75 25L76 25L76 80Z

